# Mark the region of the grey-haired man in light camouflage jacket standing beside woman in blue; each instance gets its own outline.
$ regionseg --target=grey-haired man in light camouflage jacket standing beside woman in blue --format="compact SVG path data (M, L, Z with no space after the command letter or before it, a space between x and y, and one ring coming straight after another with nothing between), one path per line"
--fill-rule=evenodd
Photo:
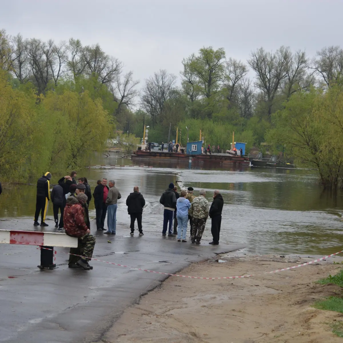
M199 197L194 198L190 207L192 216L192 243L200 244L205 229L207 217L209 216L209 202L205 199L205 190L199 192Z

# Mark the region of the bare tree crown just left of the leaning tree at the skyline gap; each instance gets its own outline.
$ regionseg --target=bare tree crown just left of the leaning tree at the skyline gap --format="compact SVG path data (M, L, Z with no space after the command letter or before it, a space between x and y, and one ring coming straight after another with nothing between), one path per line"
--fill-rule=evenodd
M86 71L95 76L101 83L110 85L122 69L122 63L105 54L99 44L86 46L82 49L86 62Z

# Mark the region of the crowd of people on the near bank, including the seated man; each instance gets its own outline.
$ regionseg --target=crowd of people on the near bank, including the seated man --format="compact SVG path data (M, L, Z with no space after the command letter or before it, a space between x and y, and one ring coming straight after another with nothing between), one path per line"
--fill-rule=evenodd
M78 238L78 247L70 249L69 268L93 269L89 264L95 246L95 237L91 235L91 225L88 213L88 205L92 199L91 188L85 177L80 177L76 182L76 171L58 180L58 184L52 188L51 201L53 204L55 227L62 232L63 228L67 235ZM37 198L34 225L48 226L45 223L47 206L50 200L51 174L47 172L37 181ZM175 237L177 241L186 243L187 226L190 222L191 242L201 244L201 238L208 217L211 218L211 233L213 236L211 245L219 244L220 227L222 220L223 197L218 190L214 191L211 206L205 199L205 190L199 191L199 196L193 194L193 188L177 192L177 186L170 183L163 192L159 202L164 206L162 235ZM114 180L107 179L97 181L93 192L96 213L96 229L105 231L104 234L116 234L117 201L121 194L115 186ZM143 195L139 187L134 186L133 192L126 199L128 214L130 215L130 235L134 235L134 225L137 221L139 235L143 236L142 213L145 205ZM58 213L60 220L58 221ZM38 218L41 213L41 222ZM104 228L107 215L107 230ZM173 225L174 221L174 225ZM82 256L82 257L81 257Z

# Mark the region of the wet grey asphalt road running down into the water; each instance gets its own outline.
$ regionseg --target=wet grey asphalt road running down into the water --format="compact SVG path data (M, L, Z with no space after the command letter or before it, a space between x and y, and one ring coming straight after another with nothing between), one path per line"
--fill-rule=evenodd
M0 228L31 229L31 225L31 218L9 219L2 221ZM134 237L127 234L127 230L118 230L116 236L109 236L112 243L107 243L107 235L95 234L94 258L176 273L190 262L245 246L210 246L209 240L197 246L190 240L178 243L174 237L154 232L138 236L136 231ZM99 261L92 261L91 271L69 269L68 255L63 253L69 248L56 250L59 268L41 271L37 268L40 262L37 247L0 245L0 342L97 342L125 307L167 277ZM197 280L189 282L196 284Z

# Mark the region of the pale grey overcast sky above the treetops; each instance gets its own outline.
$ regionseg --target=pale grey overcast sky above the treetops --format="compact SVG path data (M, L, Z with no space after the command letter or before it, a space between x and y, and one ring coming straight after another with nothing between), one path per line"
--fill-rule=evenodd
M99 43L144 82L154 71L179 75L182 58L203 46L246 61L251 50L281 45L313 56L341 45L342 0L11 0L0 28L55 42Z

